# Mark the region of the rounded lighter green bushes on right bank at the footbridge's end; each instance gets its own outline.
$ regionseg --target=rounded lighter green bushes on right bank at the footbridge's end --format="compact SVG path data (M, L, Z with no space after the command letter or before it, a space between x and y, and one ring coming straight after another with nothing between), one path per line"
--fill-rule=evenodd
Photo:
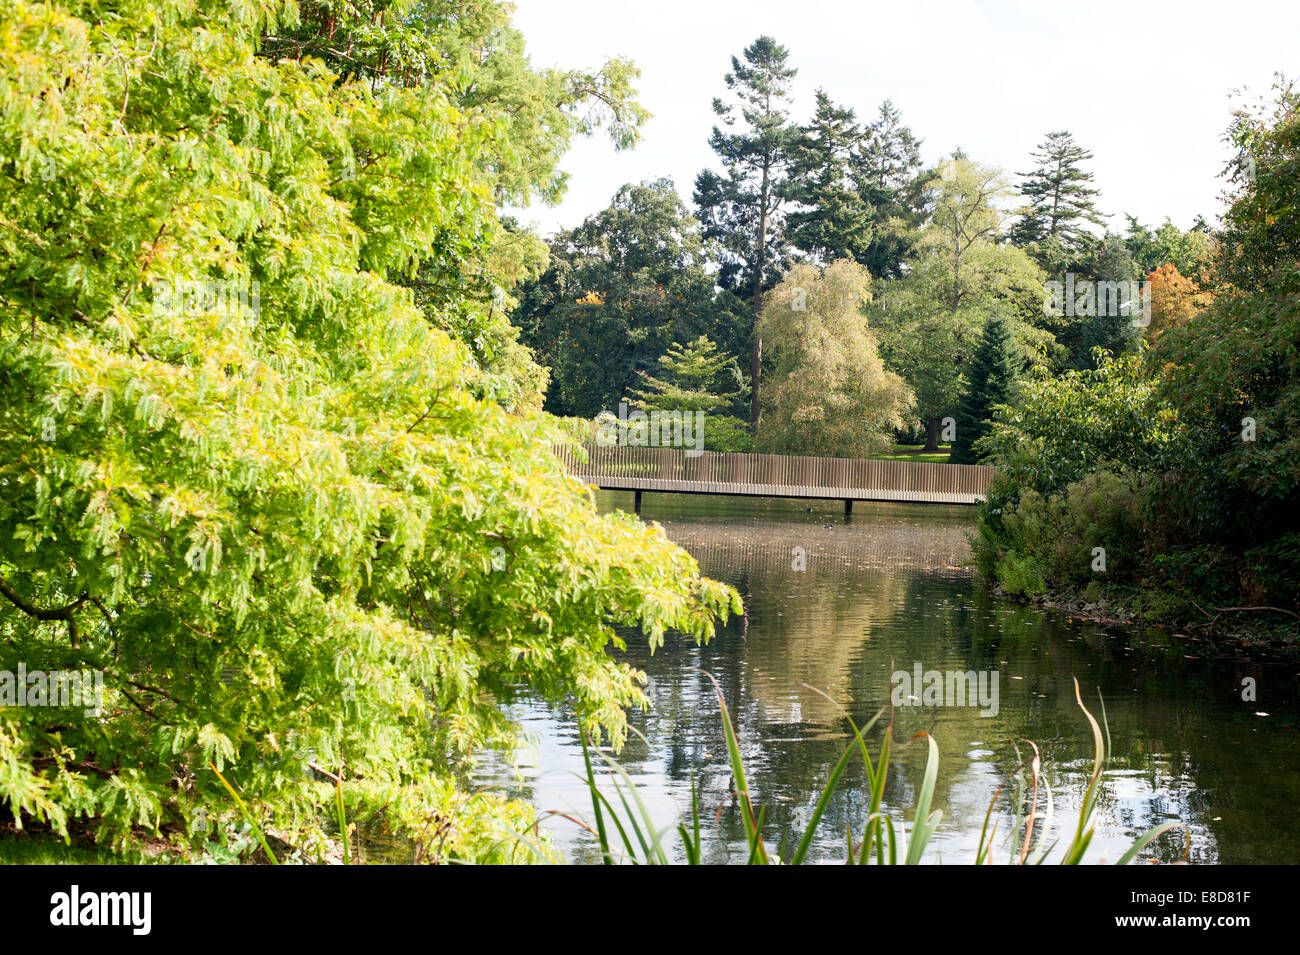
M1179 460L1178 416L1140 343L1121 356L1098 353L1095 365L1060 377L1037 369L1010 403L996 405L975 442L998 472L972 554L980 574L1009 592L1132 586L1152 567L1157 542L1144 496Z

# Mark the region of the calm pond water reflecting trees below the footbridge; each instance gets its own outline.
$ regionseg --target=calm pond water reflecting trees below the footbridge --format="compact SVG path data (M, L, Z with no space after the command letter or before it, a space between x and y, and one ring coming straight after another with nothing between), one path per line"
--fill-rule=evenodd
M602 492L602 507L632 508L630 492ZM1092 770L1092 738L1074 699L1112 738L1089 861L1114 861L1145 829L1170 819L1191 833L1190 859L1204 863L1300 860L1300 665L1243 663L1200 641L1161 631L1105 628L985 595L962 565L974 509L858 504L845 521L838 503L714 496L644 496L642 517L727 581L745 599L707 646L670 637L653 656L628 637L628 663L650 677L654 708L634 713L620 763L637 781L659 825L689 812L701 793L710 861L744 861L741 819L712 685L723 687L737 725L757 803L767 807L771 846L803 821L844 747L845 715L859 725L888 706L892 664L911 670L996 670L998 711L910 707L896 711L896 751L885 803L911 824L924 741L940 747L935 807L944 820L930 861L971 861L994 791L1019 763L1015 746L1039 745L1056 802L1061 845ZM806 568L793 569L797 547ZM1257 699L1242 699L1252 677ZM815 689L814 689L815 687ZM819 693L820 691L820 693ZM540 811L592 819L572 713L538 702L510 704L529 742L510 756L480 760L473 782L530 800ZM879 732L871 735L879 746ZM862 830L861 761L841 782L819 826L816 858L842 861L845 825ZM1006 809L1004 795L1000 809ZM998 832L1010 820L1001 812ZM576 861L597 861L593 837L550 815L545 825ZM1173 833L1144 858L1182 858ZM1000 845L997 861L1010 847ZM1050 859L1060 858L1060 850Z

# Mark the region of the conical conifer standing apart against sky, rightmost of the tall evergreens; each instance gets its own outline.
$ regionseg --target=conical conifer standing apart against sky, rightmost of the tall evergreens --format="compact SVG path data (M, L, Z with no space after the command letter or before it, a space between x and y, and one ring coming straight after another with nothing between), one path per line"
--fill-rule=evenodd
M1105 223L1093 204L1098 191L1088 185L1092 173L1080 166L1092 153L1075 143L1069 131L1060 130L1049 133L1031 155L1037 166L1031 173L1019 173L1024 177L1020 195L1028 205L1011 229L1011 242L1026 247L1056 239L1071 251L1084 248L1091 235L1083 223Z

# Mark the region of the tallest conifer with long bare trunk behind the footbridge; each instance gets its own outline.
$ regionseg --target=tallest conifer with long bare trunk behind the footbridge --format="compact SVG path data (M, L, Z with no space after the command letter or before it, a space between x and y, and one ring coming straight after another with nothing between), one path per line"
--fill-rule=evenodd
M714 100L723 127L714 127L710 146L723 164L723 174L703 170L696 179L696 204L705 236L723 249L718 283L749 295L757 324L762 292L780 277L788 257L780 212L790 140L789 51L771 36L759 36L745 48L744 61L732 57L727 88L733 103ZM757 427L758 385L762 378L763 342L755 334L750 352L753 401L750 422Z

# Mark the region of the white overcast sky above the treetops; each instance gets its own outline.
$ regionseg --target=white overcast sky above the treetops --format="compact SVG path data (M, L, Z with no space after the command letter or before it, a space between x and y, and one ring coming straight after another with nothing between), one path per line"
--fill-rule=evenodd
M632 151L575 143L560 205L517 213L543 234L604 208L625 182L668 175L689 204L696 174L715 165L712 99L731 56L760 34L800 71L797 121L818 87L862 120L890 97L927 164L961 146L1024 172L1045 133L1069 129L1096 153L1098 205L1117 229L1123 212L1213 222L1230 156L1221 136L1242 101L1230 94L1253 99L1274 73L1300 74L1297 0L516 0L515 23L537 66L632 57L654 113Z

